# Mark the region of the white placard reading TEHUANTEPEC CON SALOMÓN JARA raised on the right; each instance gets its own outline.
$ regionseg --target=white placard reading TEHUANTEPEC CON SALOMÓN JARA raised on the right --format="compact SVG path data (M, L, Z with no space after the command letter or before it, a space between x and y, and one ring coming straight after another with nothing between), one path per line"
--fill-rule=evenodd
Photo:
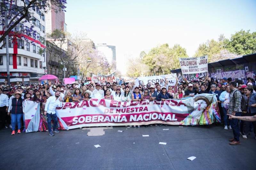
M208 55L201 57L179 58L182 74L196 74L208 71Z

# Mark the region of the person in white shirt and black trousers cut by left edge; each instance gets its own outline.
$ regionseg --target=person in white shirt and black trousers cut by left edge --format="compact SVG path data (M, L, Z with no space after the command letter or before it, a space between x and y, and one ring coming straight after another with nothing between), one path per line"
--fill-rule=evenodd
M5 127L5 117L9 107L9 98L0 88L0 129Z

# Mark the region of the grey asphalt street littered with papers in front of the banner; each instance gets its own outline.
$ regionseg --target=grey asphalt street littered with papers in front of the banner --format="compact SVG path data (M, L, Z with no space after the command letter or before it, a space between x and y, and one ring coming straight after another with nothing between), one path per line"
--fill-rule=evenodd
M88 130L71 129L50 137L48 132L11 136L10 128L0 130L0 169L256 169L252 132L248 140L240 139L241 145L232 146L232 130L216 125L117 126L104 131L103 136L87 136ZM190 156L196 159L188 160Z

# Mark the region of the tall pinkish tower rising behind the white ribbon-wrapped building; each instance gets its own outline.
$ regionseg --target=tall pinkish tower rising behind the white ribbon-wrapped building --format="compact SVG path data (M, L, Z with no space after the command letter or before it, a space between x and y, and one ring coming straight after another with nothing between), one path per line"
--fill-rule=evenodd
M67 31L67 24L65 23L65 12L55 12L53 8L48 10L45 14L46 19L46 33L52 33L53 30L59 29Z

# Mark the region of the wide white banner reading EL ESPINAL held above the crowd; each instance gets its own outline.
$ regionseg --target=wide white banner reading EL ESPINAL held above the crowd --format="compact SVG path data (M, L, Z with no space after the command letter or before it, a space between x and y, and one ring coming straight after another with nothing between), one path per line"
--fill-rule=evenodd
M135 79L135 85L139 86L142 85L142 81L144 85L147 85L148 83L151 83L152 85L155 85L156 83L161 84L161 79L163 79L163 85L165 83L165 79L167 78L167 84L174 86L176 84L176 74L166 74L166 75L160 75L160 76L149 76L149 77L138 77Z

